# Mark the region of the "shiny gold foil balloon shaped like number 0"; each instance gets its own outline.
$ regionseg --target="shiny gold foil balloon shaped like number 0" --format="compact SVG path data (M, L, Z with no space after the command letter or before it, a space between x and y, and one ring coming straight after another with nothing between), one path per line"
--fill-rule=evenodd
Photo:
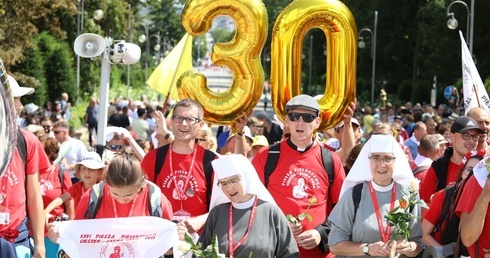
M277 18L272 31L271 99L284 121L286 103L301 94L303 39L312 28L327 38L327 82L318 101L319 129L331 128L356 96L357 27L349 9L338 0L296 0Z

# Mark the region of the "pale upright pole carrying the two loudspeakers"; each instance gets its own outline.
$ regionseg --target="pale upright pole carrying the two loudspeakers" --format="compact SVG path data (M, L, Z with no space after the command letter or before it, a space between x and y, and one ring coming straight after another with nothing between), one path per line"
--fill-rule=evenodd
M111 38L105 38L105 51L102 54L102 69L100 71L100 104L97 121L97 153L103 157L106 148L107 108L109 103L109 83L111 78L111 64L109 63L108 47L112 44Z

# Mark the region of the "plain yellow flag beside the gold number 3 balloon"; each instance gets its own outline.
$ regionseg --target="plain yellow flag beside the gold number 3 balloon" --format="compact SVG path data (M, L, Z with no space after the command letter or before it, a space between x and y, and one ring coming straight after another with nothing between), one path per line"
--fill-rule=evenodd
M192 37L186 33L151 73L146 84L165 96L170 92L170 98L179 100L176 85L177 80L185 71L191 69Z

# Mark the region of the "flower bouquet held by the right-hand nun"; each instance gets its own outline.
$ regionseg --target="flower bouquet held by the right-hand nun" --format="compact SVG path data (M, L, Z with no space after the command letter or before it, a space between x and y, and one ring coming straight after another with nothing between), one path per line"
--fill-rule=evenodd
M428 208L427 204L418 197L419 181L417 179L410 182L408 189L403 187L401 192L402 197L398 199L399 205L386 215L386 220L388 220L389 225L393 228L393 233L390 237L392 246L390 257L395 257L397 240L408 241L410 238L410 221L415 218L420 218L412 214L413 208L415 206Z

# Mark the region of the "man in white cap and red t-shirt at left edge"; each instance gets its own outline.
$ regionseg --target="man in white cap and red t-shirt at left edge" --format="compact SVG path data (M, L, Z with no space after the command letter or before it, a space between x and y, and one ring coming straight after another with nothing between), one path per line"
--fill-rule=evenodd
M21 97L34 93L33 88L20 87L17 81L7 75L15 112L20 114L24 108ZM0 87L3 87L1 85ZM30 221L34 256L45 257L44 212L39 184L39 173L49 167L49 160L43 146L34 134L20 129L17 132L17 145L9 167L0 177L0 257L31 257L29 244ZM22 139L24 143L22 143ZM23 160L25 158L25 160Z

